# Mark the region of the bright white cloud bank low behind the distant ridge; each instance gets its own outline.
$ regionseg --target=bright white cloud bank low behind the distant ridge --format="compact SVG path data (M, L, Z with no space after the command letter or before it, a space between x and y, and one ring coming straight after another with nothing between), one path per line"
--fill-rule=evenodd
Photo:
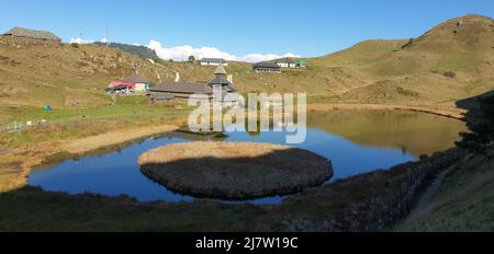
M189 56L194 56L197 59L204 57L224 58L226 60L237 60L247 62L267 61L282 57L300 57L294 54L276 55L276 54L249 54L246 56L237 57L235 55L225 53L215 47L200 47L194 48L189 45L165 47L160 42L151 39L147 45L148 48L156 50L158 57L162 59L173 59L176 61L187 60Z

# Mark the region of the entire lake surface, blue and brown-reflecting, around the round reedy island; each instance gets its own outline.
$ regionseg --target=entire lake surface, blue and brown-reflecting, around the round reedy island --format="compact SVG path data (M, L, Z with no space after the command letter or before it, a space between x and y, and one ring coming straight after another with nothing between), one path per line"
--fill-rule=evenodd
M310 113L307 138L296 147L332 160L334 176L328 182L351 175L389 169L415 161L420 154L451 148L464 123L424 113L391 111L336 111ZM283 132L231 132L226 141L283 143ZM192 201L144 176L138 157L150 149L172 142L204 140L207 137L173 132L130 145L117 151L80 159L32 171L29 185L45 190L70 194L93 193L127 195L141 201ZM252 200L276 204L282 197Z

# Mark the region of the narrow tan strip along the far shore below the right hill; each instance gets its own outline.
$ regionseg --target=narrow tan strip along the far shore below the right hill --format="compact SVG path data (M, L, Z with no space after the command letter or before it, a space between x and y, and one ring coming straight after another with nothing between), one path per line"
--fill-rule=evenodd
M307 105L308 111L336 111L336 109L390 109L390 111L412 111L435 114L456 119L463 119L467 111L461 108L425 107L425 106L402 106L402 105L380 105L380 104L312 104Z

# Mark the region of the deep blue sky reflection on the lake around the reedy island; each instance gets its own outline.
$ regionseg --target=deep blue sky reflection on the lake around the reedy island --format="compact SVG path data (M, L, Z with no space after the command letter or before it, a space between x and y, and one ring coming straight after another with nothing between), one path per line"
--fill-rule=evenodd
M261 132L259 136L231 132L227 138L228 141L270 143L284 143L284 132ZM183 141L187 140L173 137L148 139L120 152L86 157L77 161L68 160L55 166L33 171L29 184L41 186L46 190L70 194L94 193L110 196L125 194L142 201L190 201L193 200L192 197L173 194L149 181L141 173L137 164L137 159L143 152L167 143ZM296 147L330 159L335 170L332 181L415 160L412 154L403 153L401 149L363 147L317 129L308 129L305 142ZM255 203L280 200L279 197L269 197Z

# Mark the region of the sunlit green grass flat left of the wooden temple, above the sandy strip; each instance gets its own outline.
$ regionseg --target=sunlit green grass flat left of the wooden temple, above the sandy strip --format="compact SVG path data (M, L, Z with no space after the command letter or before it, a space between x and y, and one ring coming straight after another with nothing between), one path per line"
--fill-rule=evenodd
M22 123L22 131L8 134L1 128L0 147L30 148L45 141L80 139L113 129L177 124L191 108L183 105L150 105L146 96L114 97L111 105L97 107L54 108L1 106L9 123ZM180 106L177 108L177 106ZM46 124L40 124L42 119ZM32 122L33 127L26 126Z

